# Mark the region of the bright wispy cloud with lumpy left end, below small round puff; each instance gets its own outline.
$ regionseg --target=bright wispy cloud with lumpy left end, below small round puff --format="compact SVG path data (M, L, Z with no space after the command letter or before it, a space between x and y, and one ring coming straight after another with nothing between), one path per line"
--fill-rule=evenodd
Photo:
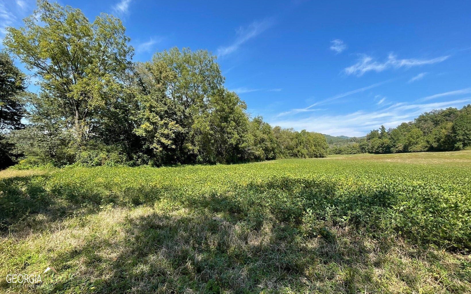
M390 68L400 68L400 67L413 67L413 66L419 66L419 65L425 65L425 64L436 64L442 61L445 61L448 56L440 56L437 58L432 58L432 59L398 59L397 56L394 54L390 54L388 56L388 59L384 62L377 62L374 61L373 57L371 56L363 56L358 60L356 64L353 64L347 68L345 68L343 71L346 74L355 74L357 76L363 75L365 72L382 72L386 69Z

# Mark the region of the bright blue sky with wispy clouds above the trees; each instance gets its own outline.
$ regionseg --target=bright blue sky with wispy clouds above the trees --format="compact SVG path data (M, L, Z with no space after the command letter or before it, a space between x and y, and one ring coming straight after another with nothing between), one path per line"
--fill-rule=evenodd
M218 55L252 116L362 136L471 103L470 1L61 0L122 18L134 60L174 46ZM0 35L32 0L0 0Z

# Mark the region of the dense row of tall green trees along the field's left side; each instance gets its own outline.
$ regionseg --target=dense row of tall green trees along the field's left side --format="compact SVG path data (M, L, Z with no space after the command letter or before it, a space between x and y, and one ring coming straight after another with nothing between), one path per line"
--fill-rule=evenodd
M21 154L24 164L55 166L327 154L320 134L251 119L208 51L172 48L133 63L121 20L102 14L90 22L79 9L46 0L23 27L7 31L6 51L35 73L40 92L26 93L24 74L8 54L1 56L1 79L8 83L1 89L0 148L10 159L2 167Z

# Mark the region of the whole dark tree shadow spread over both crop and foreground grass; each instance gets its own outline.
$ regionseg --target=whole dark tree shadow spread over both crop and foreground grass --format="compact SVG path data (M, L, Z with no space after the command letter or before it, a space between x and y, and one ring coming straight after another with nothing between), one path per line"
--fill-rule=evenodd
M7 207L0 212L3 228L12 230L19 223L32 226L26 220L40 214L46 216L44 222L92 214L107 204L142 204L148 209L120 220L119 238L111 233L85 236L79 245L57 252L52 264L59 272L73 270L73 275L32 291L390 291L388 275L381 279L378 271L385 270L388 262L391 266L388 252L393 243L375 236L384 229L381 226L397 201L389 191L353 191L342 196L332 182L278 179L201 195L170 189L114 193L77 190L72 184L49 189L47 181L47 176L0 181L0 205ZM176 208L159 209L157 204L164 205L161 200ZM151 204L157 208L149 208ZM411 292L421 287L407 265L392 265L399 268L391 276L402 283L399 286ZM463 288L447 288L458 290Z

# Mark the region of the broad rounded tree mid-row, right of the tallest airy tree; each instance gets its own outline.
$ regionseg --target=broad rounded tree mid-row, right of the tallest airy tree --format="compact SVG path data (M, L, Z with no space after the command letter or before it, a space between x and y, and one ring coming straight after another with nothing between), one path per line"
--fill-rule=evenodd
M216 116L210 115L220 110L215 101L230 96L215 60L206 50L172 48L136 65L140 106L135 133L144 138L157 161L201 161L201 141L196 140L209 134L203 132L202 117L216 123Z

